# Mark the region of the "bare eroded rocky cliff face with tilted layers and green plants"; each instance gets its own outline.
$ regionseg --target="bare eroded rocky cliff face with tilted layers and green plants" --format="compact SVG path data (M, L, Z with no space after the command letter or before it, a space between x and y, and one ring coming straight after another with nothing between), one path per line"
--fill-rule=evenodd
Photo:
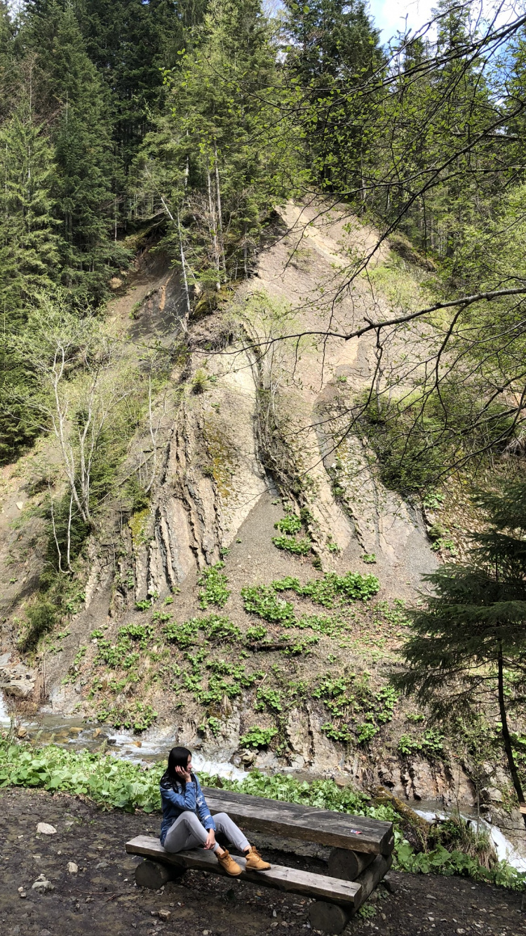
M34 479L45 442L4 471L0 680L11 699L169 735L234 764L471 804L469 764L453 769L417 748L403 757L398 739L417 742L423 728L407 722L409 704L386 701L403 603L437 560L418 511L382 486L366 440L348 433L349 406L378 369L374 337L313 334L328 322L345 333L372 311L367 278L352 289L344 280L369 235L344 220L288 205L256 276L189 321L162 260L142 257L120 285L110 317L139 354L153 340L168 353L183 339L122 468L124 482L154 467L148 501L131 514L118 497L105 507L85 553L81 607L22 661L16 619L43 563ZM387 308L374 302L376 314ZM301 337L282 343L284 333ZM298 529L279 548L272 539L287 517ZM291 541L307 545L295 551ZM349 570L373 573L379 591L332 593L325 604L299 591ZM296 592L272 589L286 577ZM260 586L270 612L247 608L241 594ZM266 738L241 742L254 728Z

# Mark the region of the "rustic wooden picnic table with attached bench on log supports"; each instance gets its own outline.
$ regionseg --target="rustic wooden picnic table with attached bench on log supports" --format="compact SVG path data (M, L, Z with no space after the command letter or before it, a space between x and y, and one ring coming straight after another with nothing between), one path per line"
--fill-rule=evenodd
M313 929L342 932L390 867L394 844L391 823L210 787L203 792L212 815L227 812L245 831L333 846L329 874L274 864L268 871L247 871L245 859L235 856L243 868L241 881L314 898L309 907ZM204 849L174 854L166 852L158 839L147 836L138 836L125 847L129 854L147 859L136 869L139 886L159 888L190 868L225 873L212 853Z

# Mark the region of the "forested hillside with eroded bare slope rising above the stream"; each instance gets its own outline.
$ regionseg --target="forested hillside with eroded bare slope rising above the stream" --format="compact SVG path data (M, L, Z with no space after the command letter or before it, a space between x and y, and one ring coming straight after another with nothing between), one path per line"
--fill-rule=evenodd
M0 9L9 705L517 830L526 17Z

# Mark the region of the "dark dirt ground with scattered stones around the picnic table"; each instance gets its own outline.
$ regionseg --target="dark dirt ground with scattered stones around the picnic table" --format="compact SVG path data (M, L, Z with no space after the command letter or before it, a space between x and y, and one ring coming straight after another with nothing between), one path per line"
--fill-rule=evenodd
M0 794L0 817L0 936L118 936L133 930L167 936L285 930L303 936L309 929L308 900L198 871L187 871L163 891L138 889L134 869L140 859L125 854L124 842L157 834L157 814L101 812L73 797L8 789ZM37 835L39 822L54 826L56 834ZM323 870L315 859L267 856L275 863ZM78 873L68 872L68 862L78 865ZM32 889L41 874L54 885L48 893ZM351 920L345 936L371 929L391 936L526 933L517 894L462 878L394 872L389 877L394 892L380 887L370 904L375 915ZM168 921L159 918L159 910L168 910Z

